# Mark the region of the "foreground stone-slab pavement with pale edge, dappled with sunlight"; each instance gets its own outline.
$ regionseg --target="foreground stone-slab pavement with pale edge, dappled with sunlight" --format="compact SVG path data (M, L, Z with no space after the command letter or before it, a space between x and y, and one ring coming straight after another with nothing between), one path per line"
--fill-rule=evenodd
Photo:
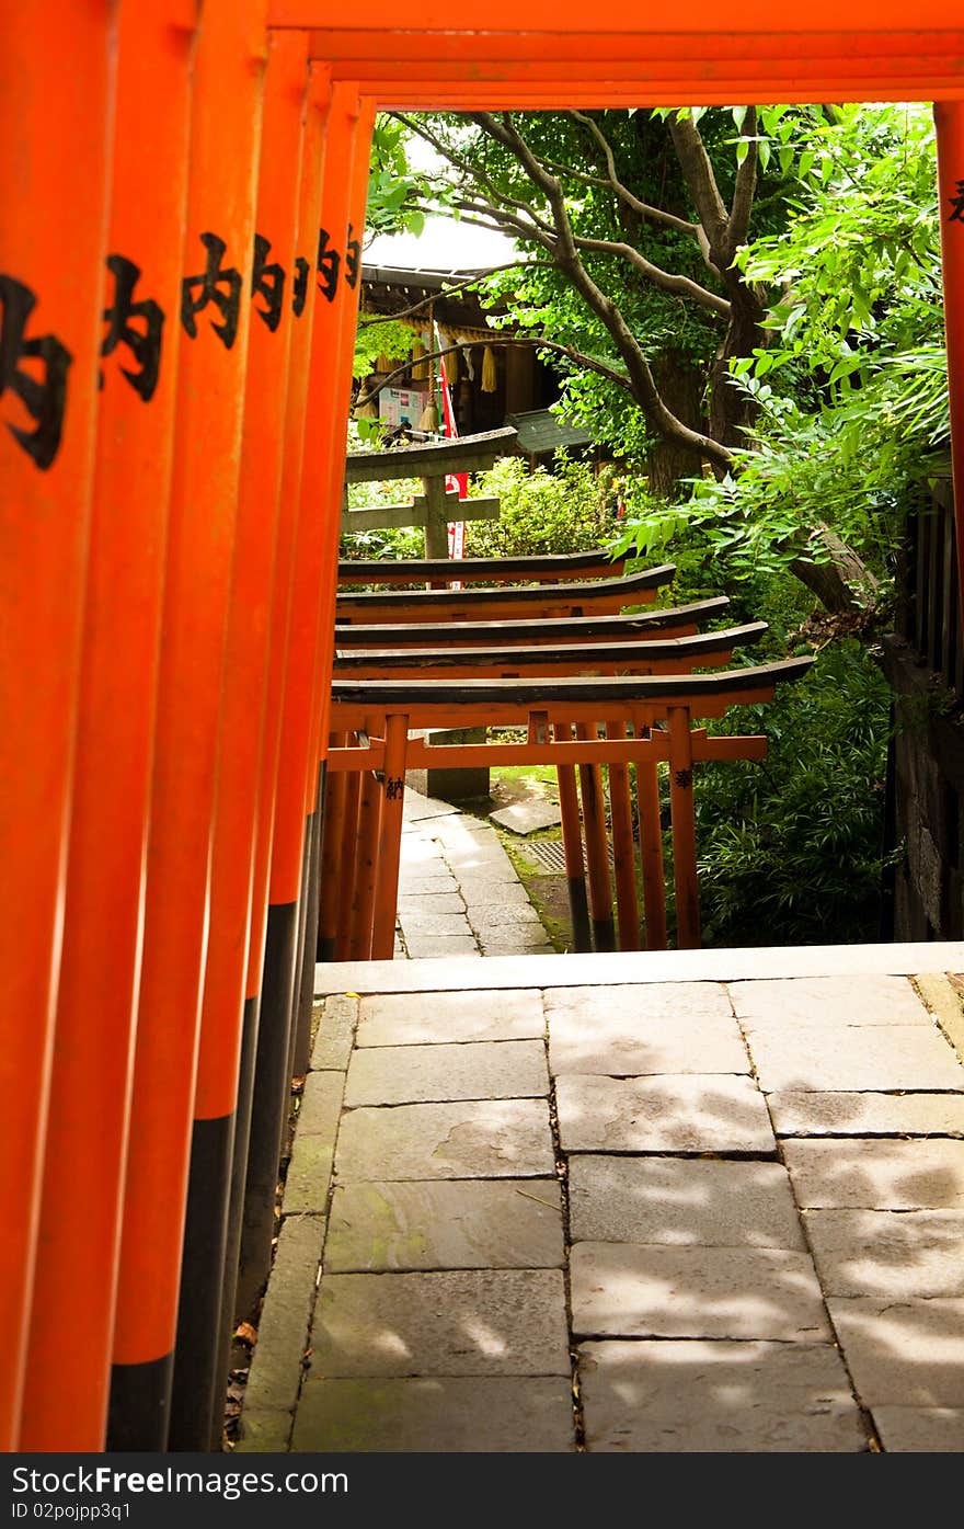
M237 1448L964 1449L962 966L319 966Z

